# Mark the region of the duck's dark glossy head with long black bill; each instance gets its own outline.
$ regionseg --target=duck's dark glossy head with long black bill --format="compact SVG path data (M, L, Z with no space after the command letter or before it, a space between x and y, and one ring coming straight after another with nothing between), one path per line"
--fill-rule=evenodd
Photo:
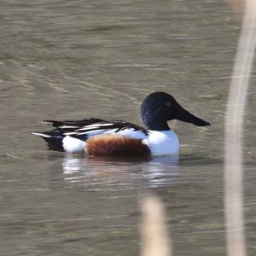
M170 130L167 121L173 119L197 126L210 125L181 107L173 96L161 91L146 97L141 107L141 119L148 129L153 131Z

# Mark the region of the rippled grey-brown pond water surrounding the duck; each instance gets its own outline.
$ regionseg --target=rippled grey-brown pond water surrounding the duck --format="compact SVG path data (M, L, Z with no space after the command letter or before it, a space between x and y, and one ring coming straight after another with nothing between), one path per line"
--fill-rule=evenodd
M224 111L240 23L223 1L0 3L0 255L138 255L145 194L175 255L224 255ZM245 113L244 211L256 254L255 72ZM179 160L47 150L43 119L125 119L171 93L209 128L170 122Z

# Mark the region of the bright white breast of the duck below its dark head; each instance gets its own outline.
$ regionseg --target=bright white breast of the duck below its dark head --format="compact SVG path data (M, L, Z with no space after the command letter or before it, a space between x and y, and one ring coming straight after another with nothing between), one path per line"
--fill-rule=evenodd
M178 137L174 131L150 131L143 143L153 156L177 154L179 150Z

